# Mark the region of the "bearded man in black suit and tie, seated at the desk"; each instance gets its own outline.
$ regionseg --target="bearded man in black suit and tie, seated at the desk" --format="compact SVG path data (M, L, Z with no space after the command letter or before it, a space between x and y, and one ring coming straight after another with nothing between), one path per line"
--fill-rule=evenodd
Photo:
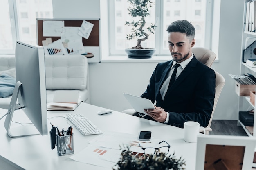
M156 66L141 95L153 103L156 101L155 109L145 109L148 115L144 118L177 127L184 127L186 121L196 121L206 127L213 110L215 72L191 52L195 45L195 28L190 22L177 20L167 31L173 60ZM176 64L180 65L175 69ZM173 72L177 72L175 78L171 78ZM170 81L174 83L169 85Z

